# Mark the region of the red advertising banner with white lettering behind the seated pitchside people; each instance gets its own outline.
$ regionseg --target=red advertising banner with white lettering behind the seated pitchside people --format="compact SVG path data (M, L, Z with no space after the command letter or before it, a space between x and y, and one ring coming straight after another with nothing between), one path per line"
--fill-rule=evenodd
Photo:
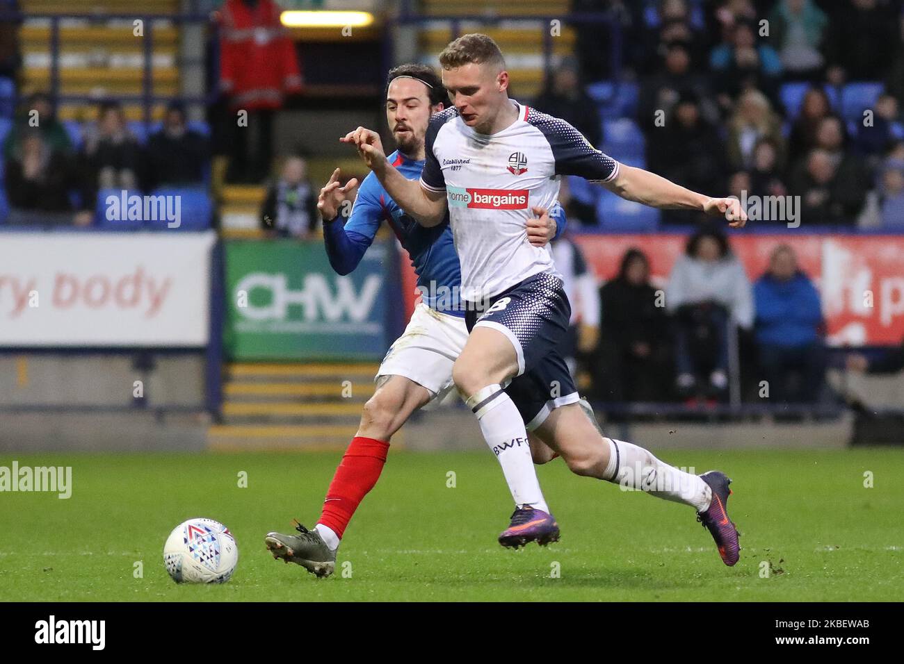
M664 287L686 235L577 235L600 282L617 274L629 248L650 259L654 285ZM827 340L833 346L891 346L904 339L904 237L845 235L739 235L732 250L755 282L766 271L769 255L780 244L794 249L802 270L823 299ZM402 251L402 292L407 315L417 291L410 260Z

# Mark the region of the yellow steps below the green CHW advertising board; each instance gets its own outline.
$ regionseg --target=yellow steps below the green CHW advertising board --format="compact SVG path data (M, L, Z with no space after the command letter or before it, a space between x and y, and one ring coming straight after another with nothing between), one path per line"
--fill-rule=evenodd
M208 449L344 449L373 394L376 369L371 363L230 364L222 423L208 429Z

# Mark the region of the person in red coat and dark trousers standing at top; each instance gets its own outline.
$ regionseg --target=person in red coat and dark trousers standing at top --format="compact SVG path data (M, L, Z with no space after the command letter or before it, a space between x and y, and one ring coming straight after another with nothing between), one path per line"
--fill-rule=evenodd
M295 44L279 22L274 0L227 0L221 10L220 86L229 97L232 141L230 180L258 182L272 160L273 116L287 94L302 89ZM247 126L239 111L248 112ZM249 131L258 149L249 158Z

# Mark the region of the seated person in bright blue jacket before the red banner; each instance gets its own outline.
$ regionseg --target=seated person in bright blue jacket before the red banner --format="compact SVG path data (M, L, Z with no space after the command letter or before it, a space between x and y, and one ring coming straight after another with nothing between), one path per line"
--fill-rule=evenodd
M817 400L825 379L819 294L797 268L797 257L779 245L753 287L759 368L769 398L778 403Z

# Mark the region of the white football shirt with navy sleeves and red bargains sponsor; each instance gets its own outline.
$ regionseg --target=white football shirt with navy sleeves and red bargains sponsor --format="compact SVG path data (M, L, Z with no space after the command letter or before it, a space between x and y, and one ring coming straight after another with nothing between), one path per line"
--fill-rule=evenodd
M467 126L456 108L430 118L427 130L420 185L446 192L468 302L485 301L540 272L556 274L549 247L527 240L531 208L552 209L561 175L607 182L618 173L617 162L565 120L512 103L518 119L493 135Z

